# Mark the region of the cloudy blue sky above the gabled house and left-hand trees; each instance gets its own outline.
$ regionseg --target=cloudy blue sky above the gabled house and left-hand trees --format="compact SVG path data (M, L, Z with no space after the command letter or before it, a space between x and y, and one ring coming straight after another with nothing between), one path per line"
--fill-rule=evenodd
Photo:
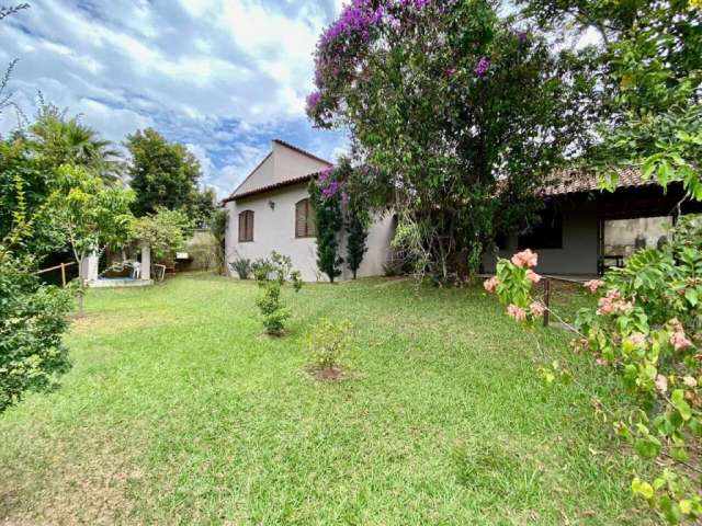
M20 59L10 87L27 114L41 90L109 140L156 127L188 145L219 195L273 138L330 160L346 148L304 112L317 37L342 0L30 3L0 31L0 65ZM0 133L15 124L5 113Z

